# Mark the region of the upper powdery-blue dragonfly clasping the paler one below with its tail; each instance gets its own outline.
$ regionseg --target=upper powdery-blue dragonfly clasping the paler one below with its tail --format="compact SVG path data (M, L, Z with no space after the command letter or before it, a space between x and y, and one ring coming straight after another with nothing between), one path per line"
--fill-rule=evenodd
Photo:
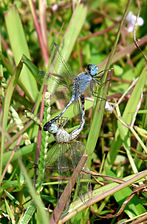
M98 84L99 86L101 86L100 81L104 75L104 73L100 75L100 73L102 73L102 72L98 72L98 66L93 65L93 64L88 64L85 72L78 74L73 80L73 82L74 82L73 93L72 93L69 103L66 105L66 107L63 109L63 111L61 111L61 113L58 116L56 116L52 120L45 123L45 125L43 126L43 130L48 131L51 124L52 123L54 124L54 122L56 120L58 120L64 114L64 112L69 108L69 106L74 101L76 101L80 98L81 94L85 90L87 90L89 85L90 85L90 90L91 90L92 95L98 97L97 93L94 91L93 86L95 83Z

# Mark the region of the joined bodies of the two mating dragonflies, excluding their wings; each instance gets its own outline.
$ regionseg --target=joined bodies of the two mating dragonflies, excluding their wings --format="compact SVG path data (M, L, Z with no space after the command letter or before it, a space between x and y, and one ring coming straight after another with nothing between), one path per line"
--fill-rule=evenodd
M101 73L101 72L100 72ZM63 111L53 118L52 120L48 121L44 127L44 131L48 131L49 133L53 134L55 136L55 140L58 143L70 143L73 139L75 139L80 132L82 131L84 124L85 124L85 98L82 94L87 88L90 86L90 90L93 96L97 97L97 93L94 92L94 84L98 84L101 86L101 79L103 77L103 74L100 75L98 73L98 67L93 64L89 64L86 68L85 72L82 72L74 78L74 85L73 85L73 93L71 96L71 99L67 106L63 109ZM81 99L81 111L82 111L82 122L79 128L74 130L71 134L68 134L64 129L65 123L60 127L56 121L59 120L59 118L64 114L64 112L68 109L68 107L78 99Z

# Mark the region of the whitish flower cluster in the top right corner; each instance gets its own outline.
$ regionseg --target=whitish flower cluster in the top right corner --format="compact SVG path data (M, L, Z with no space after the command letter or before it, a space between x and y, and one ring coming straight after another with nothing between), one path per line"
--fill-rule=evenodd
M127 31L130 33L133 31L134 26L142 26L144 24L144 20L142 17L138 17L136 21L136 16L133 14L133 12L129 12L126 16L126 20L128 21L128 27Z

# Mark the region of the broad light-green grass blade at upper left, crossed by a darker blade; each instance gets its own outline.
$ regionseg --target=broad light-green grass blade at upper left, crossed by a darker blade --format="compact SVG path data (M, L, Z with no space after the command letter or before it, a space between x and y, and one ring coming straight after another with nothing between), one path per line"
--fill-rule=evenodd
M19 63L22 55L30 58L22 23L15 6L11 6L5 14L5 22L9 35L11 48L14 54L16 65ZM37 84L29 69L24 66L20 76L21 87L31 101L37 98Z

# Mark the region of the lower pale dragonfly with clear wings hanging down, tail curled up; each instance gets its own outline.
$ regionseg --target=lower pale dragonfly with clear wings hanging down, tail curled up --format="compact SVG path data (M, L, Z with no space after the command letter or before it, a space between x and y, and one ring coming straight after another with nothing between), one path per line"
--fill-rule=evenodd
M60 176L69 176L69 169L73 169L77 166L81 156L84 153L85 146L80 141L75 140L80 132L82 131L85 124L85 97L84 95L80 96L81 101L81 124L71 133L68 133L64 126L68 122L68 118L63 120L63 117L60 121L57 120L54 123L50 123L48 132L53 134L56 144L53 147L52 156L50 156L49 161L47 160L47 166L58 170ZM58 159L56 158L56 152L59 152ZM56 161L57 160L57 161ZM56 165L57 162L57 165ZM64 173L64 174L63 174ZM58 185L58 197L60 196L60 185Z

